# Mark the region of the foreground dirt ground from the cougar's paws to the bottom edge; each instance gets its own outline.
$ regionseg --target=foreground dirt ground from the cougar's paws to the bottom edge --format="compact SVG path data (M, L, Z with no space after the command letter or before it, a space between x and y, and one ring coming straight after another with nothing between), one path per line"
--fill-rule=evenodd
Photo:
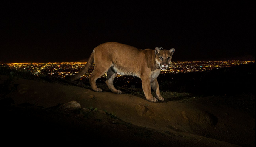
M3 82L7 76L0 76ZM255 117L214 97L150 103L131 94L16 79L1 100L3 144L255 146ZM76 105L64 109L68 102Z

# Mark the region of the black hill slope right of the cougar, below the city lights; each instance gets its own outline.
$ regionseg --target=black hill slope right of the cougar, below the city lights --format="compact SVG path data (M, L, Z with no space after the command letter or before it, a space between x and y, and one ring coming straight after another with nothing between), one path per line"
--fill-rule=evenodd
M255 64L213 69L205 72L159 75L161 90L198 95L254 94Z

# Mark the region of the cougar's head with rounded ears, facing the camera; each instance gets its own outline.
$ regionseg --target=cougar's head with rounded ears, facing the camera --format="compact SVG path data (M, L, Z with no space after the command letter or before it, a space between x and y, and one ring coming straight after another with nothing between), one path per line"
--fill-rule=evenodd
M175 51L174 48L172 48L170 50L165 50L162 47L155 48L156 64L158 64L162 70L168 69L171 59L172 59L172 55L174 54L174 51Z

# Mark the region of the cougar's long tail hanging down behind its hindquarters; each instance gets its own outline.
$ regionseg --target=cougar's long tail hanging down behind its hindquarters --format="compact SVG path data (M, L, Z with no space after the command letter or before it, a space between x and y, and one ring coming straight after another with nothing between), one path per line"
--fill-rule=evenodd
M93 64L93 62L94 62L94 53L92 52L85 67L83 67L82 70L80 72L78 72L76 75L74 75L73 77L66 76L65 79L69 80L69 81L77 80L82 75L84 75L86 72L88 72L88 70L91 67L91 65Z

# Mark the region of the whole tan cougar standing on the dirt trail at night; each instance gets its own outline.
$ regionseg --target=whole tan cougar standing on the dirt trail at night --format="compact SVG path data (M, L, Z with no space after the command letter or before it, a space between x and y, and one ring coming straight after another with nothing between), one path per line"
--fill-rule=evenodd
M66 79L72 81L78 79L88 72L88 69L94 62L94 71L89 77L91 88L94 91L102 92L95 82L107 72L106 83L108 88L114 93L121 94L122 92L113 85L116 73L120 73L121 75L133 75L141 78L143 92L148 101L164 101L156 78L160 74L161 69L168 69L173 53L174 49L164 50L163 48L156 47L155 50L141 50L117 42L107 42L94 48L87 64L77 75L67 77ZM156 93L156 98L152 96L151 88Z

